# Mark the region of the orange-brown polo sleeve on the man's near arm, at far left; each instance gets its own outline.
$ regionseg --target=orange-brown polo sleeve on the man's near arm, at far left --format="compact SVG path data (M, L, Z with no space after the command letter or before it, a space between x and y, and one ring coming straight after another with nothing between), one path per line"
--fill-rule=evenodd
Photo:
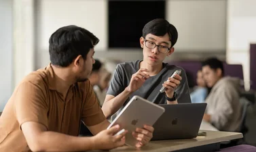
M43 87L32 82L22 82L17 89L14 109L20 127L24 122L37 122L48 128L48 105Z

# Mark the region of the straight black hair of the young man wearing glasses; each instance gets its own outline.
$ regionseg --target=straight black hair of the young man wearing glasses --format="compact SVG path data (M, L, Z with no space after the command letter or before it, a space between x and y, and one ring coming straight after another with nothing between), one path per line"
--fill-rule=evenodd
M162 18L157 18L155 20L151 20L148 22L143 30L142 30L142 36L145 38L147 34L154 34L156 36L164 36L166 33L168 33L170 37L171 47L175 45L178 39L178 31L170 24L167 20L164 20Z

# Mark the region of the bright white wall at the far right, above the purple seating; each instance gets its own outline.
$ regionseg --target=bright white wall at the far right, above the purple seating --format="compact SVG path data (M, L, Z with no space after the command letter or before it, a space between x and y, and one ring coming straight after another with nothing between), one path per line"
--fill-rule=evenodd
M244 85L250 88L249 46L256 43L256 1L227 1L227 61L242 64Z

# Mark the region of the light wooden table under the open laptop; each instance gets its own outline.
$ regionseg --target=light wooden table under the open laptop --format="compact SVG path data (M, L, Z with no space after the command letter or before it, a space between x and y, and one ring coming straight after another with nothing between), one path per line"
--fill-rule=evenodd
M161 151L217 151L219 150L219 143L221 141L230 141L236 138L242 138L241 133L237 132L219 132L211 130L200 130L206 132L206 136L197 136L196 138L180 139L180 140L165 140L165 141L151 141L141 149L135 147L119 147L111 149L111 151L147 151L147 152L161 152Z

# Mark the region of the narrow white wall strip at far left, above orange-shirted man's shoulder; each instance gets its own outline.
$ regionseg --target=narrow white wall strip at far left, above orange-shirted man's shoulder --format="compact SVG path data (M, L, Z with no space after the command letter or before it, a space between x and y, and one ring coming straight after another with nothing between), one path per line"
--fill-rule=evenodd
M14 87L35 67L34 0L13 0Z

